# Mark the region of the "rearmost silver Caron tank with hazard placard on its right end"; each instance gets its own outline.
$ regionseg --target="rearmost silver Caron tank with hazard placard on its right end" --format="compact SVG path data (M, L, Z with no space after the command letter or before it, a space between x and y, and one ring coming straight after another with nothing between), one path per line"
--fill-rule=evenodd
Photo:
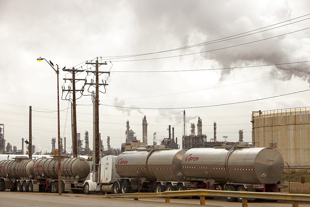
M277 183L283 173L281 154L272 148L192 148L182 168L188 179L210 178L232 183Z

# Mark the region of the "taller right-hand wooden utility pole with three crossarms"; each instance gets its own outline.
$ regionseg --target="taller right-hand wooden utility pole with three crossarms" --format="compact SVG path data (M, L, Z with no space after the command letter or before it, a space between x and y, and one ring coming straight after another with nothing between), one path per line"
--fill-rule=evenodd
M95 121L94 121L94 128L95 128L95 137L94 143L95 143L95 170L98 170L98 164L99 164L99 86L108 86L108 84L105 83L99 83L99 73L108 73L110 75L110 72L103 72L99 71L99 65L107 65L107 63L99 63L98 58L95 63L86 63L86 64L92 64L96 65L95 71L86 71L87 73L95 73L96 82L94 83L85 83L85 85L95 85L96 92L95 92ZM94 157L93 157L94 159Z

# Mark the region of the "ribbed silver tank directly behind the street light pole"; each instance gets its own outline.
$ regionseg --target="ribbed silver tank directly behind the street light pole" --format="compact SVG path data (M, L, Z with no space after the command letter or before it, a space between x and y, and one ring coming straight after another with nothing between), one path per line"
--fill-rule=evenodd
M67 179L84 179L90 172L88 161L82 157L62 157L60 161L61 176ZM58 178L58 157L40 158L33 165L36 178Z

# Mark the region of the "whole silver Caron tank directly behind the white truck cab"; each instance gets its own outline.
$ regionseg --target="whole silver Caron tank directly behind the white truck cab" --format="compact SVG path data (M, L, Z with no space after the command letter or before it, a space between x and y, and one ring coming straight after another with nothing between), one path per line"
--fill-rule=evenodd
M184 177L181 168L184 153L184 150L165 149L164 146L151 151L123 152L117 157L115 167L121 177L180 181Z

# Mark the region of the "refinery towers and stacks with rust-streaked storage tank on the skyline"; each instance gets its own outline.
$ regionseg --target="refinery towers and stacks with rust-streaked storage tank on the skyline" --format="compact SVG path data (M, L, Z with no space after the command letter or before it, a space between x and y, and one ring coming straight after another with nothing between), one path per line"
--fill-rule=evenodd
M183 112L183 136L178 140L175 137L175 127L167 126L168 135L158 140L157 132L153 132L153 146L160 144L169 149L192 149L192 148L216 148L223 147L226 140L219 141L217 138L217 124L213 122L213 137L208 138L202 131L202 119L198 117L197 125L190 123L190 134L187 135L186 113ZM252 142L249 146L267 147L277 149L283 156L284 161L290 165L298 166L310 163L310 114L308 108L288 108L269 111L253 111L252 117ZM27 155L29 152L29 140L21 138L21 148L17 149L14 143L6 140L4 136L4 124L0 124L0 154ZM197 126L197 133L196 133ZM239 139L243 142L243 130L236 130ZM135 131L131 129L129 120L126 121L126 142L113 148L110 144L110 136L104 140L99 133L99 150L102 155L119 155L125 151L146 149L148 146L148 122L146 115L142 117L142 137L137 138ZM66 137L60 138L60 152L63 155L72 155L67 152ZM36 152L36 146L32 145L34 155L56 155L58 152L56 137L51 138L51 151ZM71 142L70 142L71 143ZM106 143L106 144L105 144ZM13 145L13 146L12 146ZM90 159L93 149L89 144L89 133L77 133L78 156L87 156ZM72 145L70 146L72 148Z

